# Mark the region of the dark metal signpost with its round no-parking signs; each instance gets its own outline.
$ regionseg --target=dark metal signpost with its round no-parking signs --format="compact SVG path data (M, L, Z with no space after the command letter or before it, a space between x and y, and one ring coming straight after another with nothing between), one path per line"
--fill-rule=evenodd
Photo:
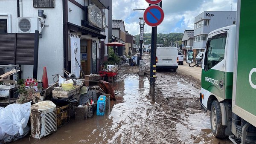
M146 0L149 6L144 12L144 21L148 26L152 26L151 34L151 62L150 62L150 90L149 95L154 101L155 93L155 78L156 78L156 50L157 50L157 26L163 22L164 13L162 7L162 0ZM160 3L160 6L157 4Z

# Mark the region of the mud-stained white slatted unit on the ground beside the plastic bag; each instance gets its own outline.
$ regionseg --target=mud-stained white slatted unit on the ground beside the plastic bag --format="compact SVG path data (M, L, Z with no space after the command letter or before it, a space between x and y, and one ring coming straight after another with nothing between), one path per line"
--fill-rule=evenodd
M31 105L31 135L44 138L57 130L56 105L52 101L41 101Z

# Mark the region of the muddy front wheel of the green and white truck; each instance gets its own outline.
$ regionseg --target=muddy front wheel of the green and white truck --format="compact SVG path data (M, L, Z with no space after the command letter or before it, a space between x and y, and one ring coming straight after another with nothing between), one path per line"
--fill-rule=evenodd
M211 107L211 128L212 133L216 138L225 138L226 126L222 125L221 108L218 101L212 102Z

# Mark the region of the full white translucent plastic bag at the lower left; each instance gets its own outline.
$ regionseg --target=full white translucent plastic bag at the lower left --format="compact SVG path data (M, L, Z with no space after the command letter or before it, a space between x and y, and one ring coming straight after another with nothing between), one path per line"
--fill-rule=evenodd
M10 104L0 110L0 128L8 135L23 135L30 116L31 101L25 104Z

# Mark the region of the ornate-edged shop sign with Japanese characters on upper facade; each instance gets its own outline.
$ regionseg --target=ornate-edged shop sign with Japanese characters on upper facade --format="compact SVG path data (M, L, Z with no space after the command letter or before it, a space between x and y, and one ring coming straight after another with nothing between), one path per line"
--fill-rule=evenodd
M97 6L88 6L88 17L88 20L91 24L102 29L102 13Z

